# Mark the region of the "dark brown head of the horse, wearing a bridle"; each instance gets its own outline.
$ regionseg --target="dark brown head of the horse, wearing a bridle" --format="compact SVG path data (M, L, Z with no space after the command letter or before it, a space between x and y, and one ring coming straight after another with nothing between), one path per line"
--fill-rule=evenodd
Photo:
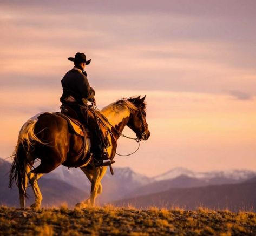
M127 126L136 133L137 138L142 140L147 140L150 136L148 124L146 122L146 104L144 102L145 97L146 96L140 98L139 96L127 99L136 107L136 109L133 109L130 114L130 119Z

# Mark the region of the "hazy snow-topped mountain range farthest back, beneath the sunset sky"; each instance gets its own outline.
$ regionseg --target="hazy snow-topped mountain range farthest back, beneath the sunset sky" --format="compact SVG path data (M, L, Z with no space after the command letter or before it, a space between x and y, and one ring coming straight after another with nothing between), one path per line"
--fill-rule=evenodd
M114 176L111 176L108 170L102 179L103 193L99 196L100 203L162 192L169 188L241 183L256 176L256 172L250 170L193 172L186 168L174 168L152 178L138 174L128 167L114 168L114 172ZM67 181L68 184L81 190L90 188L88 179L80 169L70 168L68 170L68 168L60 166L47 174L45 178Z

